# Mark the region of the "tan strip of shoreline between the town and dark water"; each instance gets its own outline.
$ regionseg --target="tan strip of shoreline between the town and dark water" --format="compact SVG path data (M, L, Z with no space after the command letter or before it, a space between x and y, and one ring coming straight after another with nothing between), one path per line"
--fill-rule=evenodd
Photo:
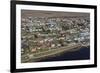
M75 45L72 45L72 46L64 46L64 47L61 47L59 49L53 49L53 50L50 50L50 51L39 53L39 54L42 54L42 55L38 56L38 57L33 56L32 58L30 58L26 61L21 60L21 63L38 62L42 59L46 59L46 58L49 58L49 57L54 57L54 56L57 56L57 55L61 55L64 52L77 51L77 50L81 49L81 47L88 47L88 46L82 46L81 44L75 44Z

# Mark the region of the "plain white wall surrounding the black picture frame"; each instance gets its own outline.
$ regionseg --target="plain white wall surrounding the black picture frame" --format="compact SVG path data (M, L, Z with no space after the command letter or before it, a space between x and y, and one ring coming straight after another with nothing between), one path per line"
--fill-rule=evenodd
M85 69L70 69L70 70L55 70L42 71L34 73L99 73L100 72L100 2L99 0L34 0L43 2L56 3L74 3L74 4L89 4L98 5L98 67ZM0 73L10 73L10 0L1 0L0 2ZM30 73L30 72L28 72Z

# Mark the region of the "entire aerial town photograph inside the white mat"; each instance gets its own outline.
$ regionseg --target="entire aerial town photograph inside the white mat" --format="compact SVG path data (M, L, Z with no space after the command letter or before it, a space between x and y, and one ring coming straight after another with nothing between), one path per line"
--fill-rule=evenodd
M89 13L21 10L21 63L83 60L89 52Z

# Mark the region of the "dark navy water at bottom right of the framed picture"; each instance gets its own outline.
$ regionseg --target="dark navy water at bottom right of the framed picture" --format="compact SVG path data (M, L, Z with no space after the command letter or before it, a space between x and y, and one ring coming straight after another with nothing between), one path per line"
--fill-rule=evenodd
M49 61L71 61L71 60L87 60L90 59L90 47L80 48L77 51L65 52L63 54L45 58L39 62L49 62Z

